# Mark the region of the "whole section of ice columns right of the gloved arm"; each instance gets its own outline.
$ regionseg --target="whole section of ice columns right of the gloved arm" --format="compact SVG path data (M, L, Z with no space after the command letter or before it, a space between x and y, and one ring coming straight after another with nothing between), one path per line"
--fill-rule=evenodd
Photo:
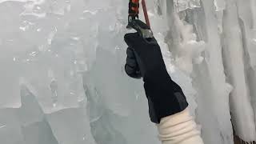
M201 2L199 8L181 11L177 11L175 2L166 3L169 7L167 19L170 19L170 35L166 37L170 39L166 41L176 57L177 66L190 71L189 63L183 59L182 65L179 63L182 54L193 50L194 58L197 58L198 50L202 49L200 41L206 45L202 63L198 65L198 61L194 61L194 71L189 73L193 78L194 89L197 90L197 119L202 125L204 141L233 143L230 113L235 133L247 142L255 141L254 46L251 44L254 36L250 35L254 33L254 1L206 0ZM174 10L170 10L171 6L174 6ZM178 12L178 19L175 12ZM187 41L190 35L185 33L186 36L183 36L186 25L193 26L199 43L198 46L196 42L193 46L187 45L188 50L180 54L184 40Z

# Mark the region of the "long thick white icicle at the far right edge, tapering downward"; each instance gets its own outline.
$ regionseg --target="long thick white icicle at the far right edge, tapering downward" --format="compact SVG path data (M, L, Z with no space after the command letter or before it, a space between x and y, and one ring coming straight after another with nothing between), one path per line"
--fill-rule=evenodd
M255 140L256 131L250 94L246 85L238 11L233 0L228 0L226 6L223 14L223 51L226 61L226 74L230 84L234 86L230 95L230 110L236 134L243 140L250 142Z

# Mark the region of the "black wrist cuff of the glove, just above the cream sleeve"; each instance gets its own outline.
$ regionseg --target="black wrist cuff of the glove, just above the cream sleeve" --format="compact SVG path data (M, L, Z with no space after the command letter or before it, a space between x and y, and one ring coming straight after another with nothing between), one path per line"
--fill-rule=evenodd
M188 106L186 97L171 79L167 82L145 82L144 88L149 101L150 119L159 123L161 118L177 114Z

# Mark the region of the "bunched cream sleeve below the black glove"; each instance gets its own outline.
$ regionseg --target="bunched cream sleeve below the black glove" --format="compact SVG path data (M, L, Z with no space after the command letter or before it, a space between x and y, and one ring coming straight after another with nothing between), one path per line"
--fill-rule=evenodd
M162 144L203 144L200 131L188 108L162 118L157 126Z

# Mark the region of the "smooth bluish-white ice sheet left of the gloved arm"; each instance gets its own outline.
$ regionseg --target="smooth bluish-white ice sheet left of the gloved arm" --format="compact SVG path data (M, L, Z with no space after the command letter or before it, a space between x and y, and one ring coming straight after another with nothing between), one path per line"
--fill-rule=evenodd
M142 82L123 71L127 2L0 1L0 11L0 143L159 143Z

